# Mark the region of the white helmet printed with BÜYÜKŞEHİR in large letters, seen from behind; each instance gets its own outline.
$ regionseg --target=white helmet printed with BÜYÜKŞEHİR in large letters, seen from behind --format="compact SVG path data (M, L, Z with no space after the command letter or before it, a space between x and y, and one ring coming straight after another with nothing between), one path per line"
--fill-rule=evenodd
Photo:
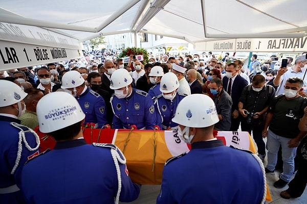
M60 130L85 118L76 98L62 91L43 96L37 103L36 114L42 133Z

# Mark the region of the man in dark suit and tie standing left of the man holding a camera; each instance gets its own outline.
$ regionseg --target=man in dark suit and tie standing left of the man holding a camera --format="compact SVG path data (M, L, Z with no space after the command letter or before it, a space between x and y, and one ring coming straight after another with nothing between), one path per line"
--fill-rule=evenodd
M230 63L226 67L226 75L223 77L224 90L231 96L231 127L230 131L237 131L240 125L238 102L241 92L248 82L238 73L238 68L235 63Z

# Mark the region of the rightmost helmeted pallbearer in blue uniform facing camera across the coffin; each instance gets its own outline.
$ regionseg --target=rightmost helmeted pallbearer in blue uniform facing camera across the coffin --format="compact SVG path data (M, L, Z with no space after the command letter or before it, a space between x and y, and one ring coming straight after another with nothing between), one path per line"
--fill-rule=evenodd
M178 88L179 81L176 74L168 72L163 75L160 86L162 94L153 98L157 113L157 125L161 130L178 129L178 124L171 119L175 116L179 102L187 96L184 93L178 93Z

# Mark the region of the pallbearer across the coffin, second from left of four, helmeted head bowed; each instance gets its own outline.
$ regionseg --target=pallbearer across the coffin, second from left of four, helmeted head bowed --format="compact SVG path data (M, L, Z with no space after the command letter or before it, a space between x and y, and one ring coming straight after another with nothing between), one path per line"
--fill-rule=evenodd
M110 88L114 89L111 97L114 129L153 130L156 125L156 113L150 96L131 87L132 78L126 69L117 69L111 76Z

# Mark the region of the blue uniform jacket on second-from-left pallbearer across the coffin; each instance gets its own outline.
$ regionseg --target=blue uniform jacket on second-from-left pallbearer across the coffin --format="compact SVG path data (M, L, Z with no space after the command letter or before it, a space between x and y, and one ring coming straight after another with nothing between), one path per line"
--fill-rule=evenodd
M156 125L156 113L150 96L141 90L134 89L127 98L111 97L111 105L114 113L114 129L131 129L136 125L137 129L153 130Z

